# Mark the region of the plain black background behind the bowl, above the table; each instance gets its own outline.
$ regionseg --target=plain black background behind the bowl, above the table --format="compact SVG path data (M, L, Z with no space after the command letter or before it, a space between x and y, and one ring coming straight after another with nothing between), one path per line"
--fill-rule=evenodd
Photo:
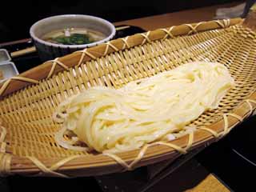
M0 42L29 38L30 26L42 18L58 14L90 14L110 22L165 14L178 10L213 6L236 0L158 0L158 1L1 1ZM241 1L240 1L241 2Z

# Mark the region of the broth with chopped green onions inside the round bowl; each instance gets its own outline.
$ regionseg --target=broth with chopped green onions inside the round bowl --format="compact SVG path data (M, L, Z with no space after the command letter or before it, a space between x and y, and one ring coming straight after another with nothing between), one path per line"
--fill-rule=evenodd
M60 45L82 45L91 42L97 42L106 38L105 34L95 30L84 28L66 28L62 30L53 30L44 34L42 39L46 42L53 42Z

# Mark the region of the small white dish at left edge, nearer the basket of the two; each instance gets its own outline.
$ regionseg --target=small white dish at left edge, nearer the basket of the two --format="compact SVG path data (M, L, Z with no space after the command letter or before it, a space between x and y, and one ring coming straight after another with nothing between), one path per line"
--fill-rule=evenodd
M13 62L0 62L0 70L2 70L3 74L3 79L1 79L0 82L4 82L8 78L12 78L19 74Z

